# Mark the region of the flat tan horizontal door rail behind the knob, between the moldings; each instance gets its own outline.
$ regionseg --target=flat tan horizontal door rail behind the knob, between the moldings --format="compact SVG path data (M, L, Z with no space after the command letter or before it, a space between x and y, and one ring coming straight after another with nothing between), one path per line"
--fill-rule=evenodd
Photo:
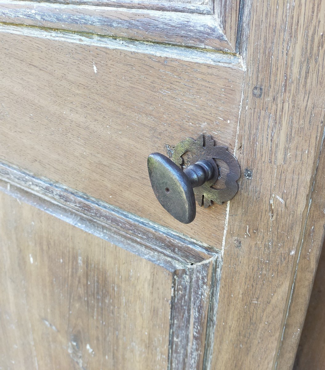
M177 223L146 162L201 132L232 151L243 71L8 34L0 60L1 159L221 248L226 205Z

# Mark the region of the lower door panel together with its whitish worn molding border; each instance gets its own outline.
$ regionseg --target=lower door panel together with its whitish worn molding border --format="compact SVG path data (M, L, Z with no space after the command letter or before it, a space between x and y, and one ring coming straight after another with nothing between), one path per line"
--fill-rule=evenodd
M0 181L0 189L14 197L0 192L1 366L202 369L214 329L218 253L199 247L175 254L165 235L153 251L146 238L111 230L103 205L76 194L82 212L65 206L73 193L61 189L59 196L58 185L44 184L46 193L27 175L16 185L15 176L1 178L10 182ZM98 208L107 220L94 220ZM115 222L122 228L121 216Z

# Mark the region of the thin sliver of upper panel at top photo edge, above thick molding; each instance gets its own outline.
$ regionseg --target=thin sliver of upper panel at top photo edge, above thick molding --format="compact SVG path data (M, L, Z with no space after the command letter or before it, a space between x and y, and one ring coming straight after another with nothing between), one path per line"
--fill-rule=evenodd
M25 0L18 0L25 1ZM172 3L171 1L154 1L154 0L30 0L35 3L52 3L52 4L71 4L71 5L92 5L106 6L114 8L126 9L148 9L175 11L180 13L197 13L197 14L213 14L213 6L211 1L207 4L191 4L191 3Z

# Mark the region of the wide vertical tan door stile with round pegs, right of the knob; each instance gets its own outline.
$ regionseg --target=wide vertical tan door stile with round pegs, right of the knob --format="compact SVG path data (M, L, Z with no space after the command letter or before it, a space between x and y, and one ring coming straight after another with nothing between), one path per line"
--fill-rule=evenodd
M310 248L305 224L324 132L324 8L244 4L247 72L235 149L244 176L229 204L212 369L289 369L277 365L277 351L297 255ZM322 234L315 229L313 238Z

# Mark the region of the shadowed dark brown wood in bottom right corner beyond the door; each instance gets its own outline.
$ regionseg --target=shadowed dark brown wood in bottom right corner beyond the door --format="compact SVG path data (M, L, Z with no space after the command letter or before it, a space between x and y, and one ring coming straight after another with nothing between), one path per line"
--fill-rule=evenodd
M325 248L323 246L304 327L295 359L294 370L322 370L325 367ZM309 292L308 292L309 293ZM305 308L305 305L303 306ZM281 367L279 367L281 369Z

